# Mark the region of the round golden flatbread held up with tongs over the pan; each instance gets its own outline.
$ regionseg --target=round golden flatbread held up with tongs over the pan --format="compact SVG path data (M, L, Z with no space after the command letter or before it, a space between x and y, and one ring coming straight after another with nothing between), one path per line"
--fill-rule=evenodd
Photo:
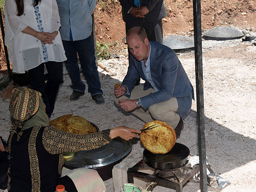
M143 129L149 126L158 126L140 133L140 140L147 150L154 154L166 154L176 142L176 134L172 126L163 121L152 121L144 125Z

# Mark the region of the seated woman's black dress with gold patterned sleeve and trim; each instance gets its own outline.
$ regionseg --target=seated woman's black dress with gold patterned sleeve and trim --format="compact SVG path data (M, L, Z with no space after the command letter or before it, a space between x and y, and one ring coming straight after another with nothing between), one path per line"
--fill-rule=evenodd
M93 134L70 134L53 126L34 126L17 134L10 133L8 150L8 192L54 192L59 182L74 188L71 179L62 178L63 152L90 150L111 141L110 130ZM76 189L69 191L76 192Z

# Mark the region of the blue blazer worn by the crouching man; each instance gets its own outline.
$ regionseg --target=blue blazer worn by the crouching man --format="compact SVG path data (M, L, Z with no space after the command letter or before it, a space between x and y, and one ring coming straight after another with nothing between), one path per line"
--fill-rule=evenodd
M143 108L147 109L155 103L176 97L180 116L186 116L190 112L192 98L194 99L194 89L180 60L171 48L159 42L150 41L150 46L151 77L158 91L140 98ZM139 75L146 81L144 90L152 88L143 73L141 62L130 54L128 72L122 82L122 85L128 88L128 92L125 94L128 98L130 98L130 92L134 89Z

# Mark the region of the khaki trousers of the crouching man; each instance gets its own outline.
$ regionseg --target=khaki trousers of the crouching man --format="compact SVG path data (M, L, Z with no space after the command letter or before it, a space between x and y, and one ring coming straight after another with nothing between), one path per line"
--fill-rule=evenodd
M154 93L155 90L150 88L148 90L143 90L142 85L135 86L131 92L130 100L135 100L144 96L147 96L150 93ZM118 100L128 99L126 96L121 96L120 98L116 98L114 96L114 102L118 104ZM147 110L144 110L141 106L139 108L135 108L131 111L132 114L138 116L144 122L150 122L153 120L164 121L172 128L176 128L180 121L180 116L177 114L178 112L178 102L176 97L172 97L170 100L156 103L151 105Z

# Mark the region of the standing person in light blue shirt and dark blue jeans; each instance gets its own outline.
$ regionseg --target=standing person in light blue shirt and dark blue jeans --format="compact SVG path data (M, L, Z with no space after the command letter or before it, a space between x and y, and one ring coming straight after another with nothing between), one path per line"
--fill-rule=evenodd
M72 81L73 93L70 100L78 100L84 95L85 84L80 78L78 57L82 72L88 83L88 92L97 104L104 103L103 92L95 63L92 42L92 13L96 0L56 0L60 14L60 35L68 60L66 69ZM77 57L78 54L78 57Z

